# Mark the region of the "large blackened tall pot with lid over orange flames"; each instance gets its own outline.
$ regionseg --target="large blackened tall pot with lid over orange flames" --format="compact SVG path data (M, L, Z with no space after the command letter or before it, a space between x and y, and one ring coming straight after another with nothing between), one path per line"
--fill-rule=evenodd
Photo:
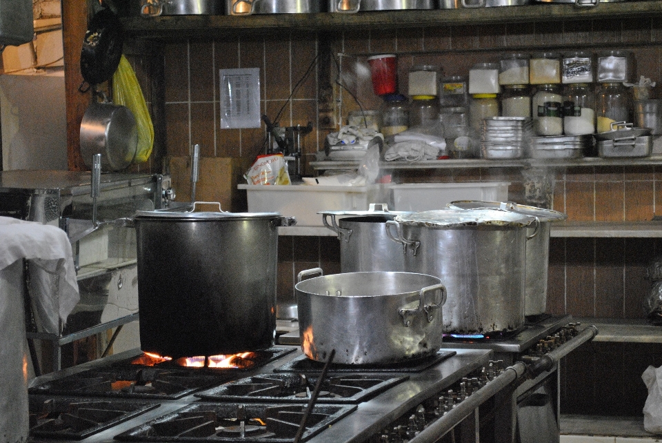
M273 346L278 213L139 211L143 351L170 357Z

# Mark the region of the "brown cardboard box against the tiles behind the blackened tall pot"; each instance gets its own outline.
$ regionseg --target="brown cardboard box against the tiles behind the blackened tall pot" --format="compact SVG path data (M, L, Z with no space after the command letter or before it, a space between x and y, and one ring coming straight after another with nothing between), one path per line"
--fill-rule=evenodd
M175 201L191 201L190 157L169 157L168 171L175 190ZM200 157L200 170L195 185L196 201L218 201L221 209L233 213L248 208L245 193L237 185L245 183L243 174L250 168L250 160L235 157ZM215 210L205 205L196 210Z

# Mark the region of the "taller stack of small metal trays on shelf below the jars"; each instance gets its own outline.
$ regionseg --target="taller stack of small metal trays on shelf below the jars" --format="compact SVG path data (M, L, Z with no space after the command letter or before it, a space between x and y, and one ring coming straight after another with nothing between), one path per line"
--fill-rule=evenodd
M519 159L532 136L532 121L526 117L483 119L481 152L484 159Z

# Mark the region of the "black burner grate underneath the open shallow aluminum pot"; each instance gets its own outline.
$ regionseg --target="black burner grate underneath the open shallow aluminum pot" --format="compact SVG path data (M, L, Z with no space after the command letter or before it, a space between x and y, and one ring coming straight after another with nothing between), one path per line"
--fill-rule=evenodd
M366 372L394 372L394 373L415 373L421 372L430 366L446 360L455 355L455 351L439 351L429 357L421 357L392 364L335 364L332 363L329 371L332 373L366 373ZM274 369L274 372L321 372L324 364L310 360L305 355L290 360Z

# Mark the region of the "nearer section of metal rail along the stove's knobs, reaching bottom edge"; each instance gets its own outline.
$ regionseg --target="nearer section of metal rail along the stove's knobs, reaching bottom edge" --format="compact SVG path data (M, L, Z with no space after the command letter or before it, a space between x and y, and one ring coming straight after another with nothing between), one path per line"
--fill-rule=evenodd
M423 429L419 435L415 436L409 443L434 443L440 437L448 433L459 422L468 417L478 406L489 400L493 395L501 391L521 375L524 374L526 366L523 362L515 362L512 366L505 368L503 373L499 374L494 380L488 382L475 393L472 393L465 400L459 402L448 413L432 422L427 428Z

